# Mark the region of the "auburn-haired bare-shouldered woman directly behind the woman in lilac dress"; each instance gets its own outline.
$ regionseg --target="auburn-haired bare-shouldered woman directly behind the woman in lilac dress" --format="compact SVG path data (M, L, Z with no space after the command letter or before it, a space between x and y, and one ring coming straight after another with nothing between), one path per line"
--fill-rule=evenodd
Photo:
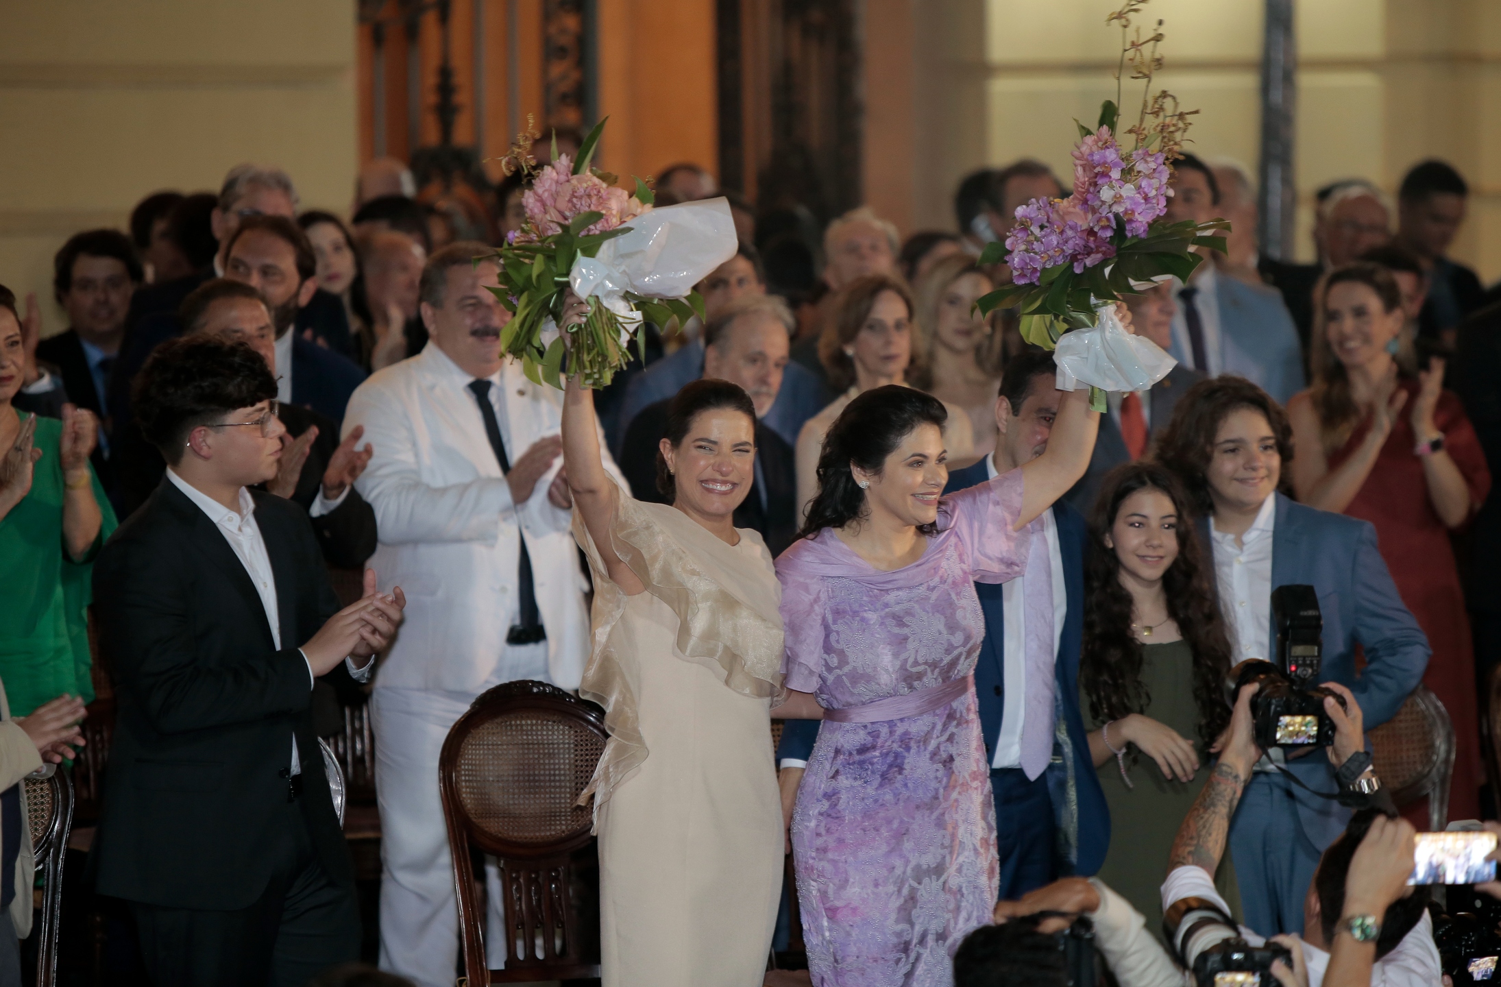
M832 322L818 338L818 360L829 370L829 384L844 390L797 434L799 518L818 494L818 453L824 435L857 394L886 384L905 384L913 360L913 296L890 274L866 274L850 282L839 296ZM949 422L943 440L949 462L974 459L974 430L964 408L944 402Z

